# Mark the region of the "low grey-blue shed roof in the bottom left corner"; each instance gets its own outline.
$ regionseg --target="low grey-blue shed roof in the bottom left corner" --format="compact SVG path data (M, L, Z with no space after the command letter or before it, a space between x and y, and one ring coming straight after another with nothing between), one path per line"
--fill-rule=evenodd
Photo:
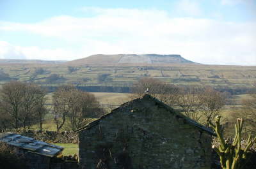
M34 138L29 138L27 136L18 135L15 133L0 133L0 142L8 143L25 149L29 152L34 152L43 156L54 157L63 151L63 147L58 145L53 145L51 143L45 143Z

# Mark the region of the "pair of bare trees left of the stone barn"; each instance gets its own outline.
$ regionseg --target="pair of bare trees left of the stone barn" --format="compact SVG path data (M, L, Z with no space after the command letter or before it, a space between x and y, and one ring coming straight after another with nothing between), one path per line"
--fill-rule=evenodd
M64 124L74 131L86 124L88 118L104 114L93 94L74 86L58 87L52 94L50 107L46 104L46 94L44 88L32 83L11 81L4 84L0 89L0 128L28 129L39 124L42 131L45 115L49 114L57 131Z

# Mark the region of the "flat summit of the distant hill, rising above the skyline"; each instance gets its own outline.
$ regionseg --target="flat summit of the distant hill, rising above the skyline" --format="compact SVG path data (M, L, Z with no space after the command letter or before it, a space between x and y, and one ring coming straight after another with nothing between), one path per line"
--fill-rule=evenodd
M118 54L118 55L90 55L83 59L67 62L68 64L173 64L194 63L181 55L159 54Z

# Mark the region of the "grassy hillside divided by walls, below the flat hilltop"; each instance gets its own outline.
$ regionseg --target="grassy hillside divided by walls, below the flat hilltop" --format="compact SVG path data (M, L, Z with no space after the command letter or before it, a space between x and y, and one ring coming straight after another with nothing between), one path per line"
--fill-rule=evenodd
M0 64L0 85L20 80L43 86L131 86L141 77L157 78L176 85L252 87L256 82L256 66Z

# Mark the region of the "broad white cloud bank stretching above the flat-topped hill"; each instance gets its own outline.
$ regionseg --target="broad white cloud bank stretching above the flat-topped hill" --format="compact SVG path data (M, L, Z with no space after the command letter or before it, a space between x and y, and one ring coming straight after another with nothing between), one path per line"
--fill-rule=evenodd
M91 54L156 53L181 54L206 64L256 65L256 24L252 22L172 18L158 10L82 10L93 11L95 15L58 16L34 24L0 22L0 31L27 31L76 46L51 50L39 45L13 48L28 59L72 60Z

